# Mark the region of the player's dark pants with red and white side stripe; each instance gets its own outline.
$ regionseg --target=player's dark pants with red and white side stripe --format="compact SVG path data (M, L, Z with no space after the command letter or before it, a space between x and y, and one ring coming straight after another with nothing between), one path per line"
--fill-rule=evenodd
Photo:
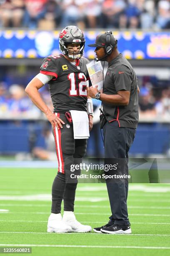
M61 203L64 201L65 211L74 211L75 190L77 179L71 179L70 166L80 164L85 156L87 139L74 139L73 125L70 124L65 114L57 114L64 122L63 128L53 131L58 160L58 173L52 184L52 213L60 213ZM79 175L80 169L74 174Z

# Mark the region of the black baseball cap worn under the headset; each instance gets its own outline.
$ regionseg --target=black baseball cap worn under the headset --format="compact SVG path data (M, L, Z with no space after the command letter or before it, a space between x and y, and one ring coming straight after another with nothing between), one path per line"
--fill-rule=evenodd
M106 45L106 34L107 34L107 32L105 32L103 34L99 34L96 37L95 44L88 44L88 46L90 46L90 47L105 47L105 45ZM117 46L117 40L112 35L112 33L110 34L110 45L113 46L113 47Z

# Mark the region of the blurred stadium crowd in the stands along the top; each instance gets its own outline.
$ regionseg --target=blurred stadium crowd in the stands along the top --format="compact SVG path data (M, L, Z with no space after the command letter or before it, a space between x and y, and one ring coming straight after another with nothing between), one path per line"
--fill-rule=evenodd
M170 0L0 0L0 25L55 29L170 28Z

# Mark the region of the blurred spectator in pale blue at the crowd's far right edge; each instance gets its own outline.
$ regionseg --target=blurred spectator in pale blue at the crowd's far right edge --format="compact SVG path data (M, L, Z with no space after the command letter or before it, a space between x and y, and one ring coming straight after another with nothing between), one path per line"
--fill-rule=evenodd
M170 2L168 0L160 0L158 3L156 26L162 29L170 28Z

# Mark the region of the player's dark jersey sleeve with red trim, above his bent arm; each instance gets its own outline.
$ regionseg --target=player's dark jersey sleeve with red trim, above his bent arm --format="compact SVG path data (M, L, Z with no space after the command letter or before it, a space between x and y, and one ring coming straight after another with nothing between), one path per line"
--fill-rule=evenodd
M53 59L51 56L46 57L42 61L42 65L40 67L40 73L48 76L52 76L52 80L56 80L58 77L57 74L57 61Z

